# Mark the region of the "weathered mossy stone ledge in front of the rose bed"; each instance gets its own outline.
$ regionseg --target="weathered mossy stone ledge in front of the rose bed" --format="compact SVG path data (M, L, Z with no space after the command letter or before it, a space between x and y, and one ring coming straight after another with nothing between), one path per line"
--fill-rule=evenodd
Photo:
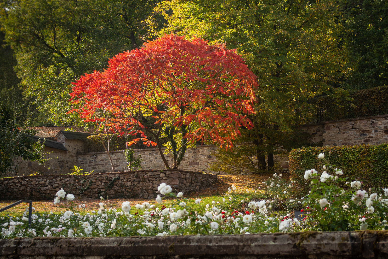
M0 240L11 258L388 258L388 231Z

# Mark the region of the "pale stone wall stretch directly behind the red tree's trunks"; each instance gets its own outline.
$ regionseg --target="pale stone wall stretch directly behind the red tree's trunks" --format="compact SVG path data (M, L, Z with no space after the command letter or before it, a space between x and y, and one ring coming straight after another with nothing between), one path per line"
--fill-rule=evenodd
M165 149L163 149L164 151ZM204 145L196 148L188 148L184 159L179 165L181 170L190 170L205 173L217 173L209 169L210 165L216 161L213 153L217 150L216 146ZM142 156L142 169L162 169L165 168L159 150L157 148L150 149L135 149L135 157ZM114 170L125 171L128 170L128 163L124 157L123 151L110 152ZM169 154L170 155L170 154ZM173 166L173 159L166 156L170 167ZM94 170L94 173L111 172L112 167L106 152L94 152L78 155L78 166L81 166L85 172Z

